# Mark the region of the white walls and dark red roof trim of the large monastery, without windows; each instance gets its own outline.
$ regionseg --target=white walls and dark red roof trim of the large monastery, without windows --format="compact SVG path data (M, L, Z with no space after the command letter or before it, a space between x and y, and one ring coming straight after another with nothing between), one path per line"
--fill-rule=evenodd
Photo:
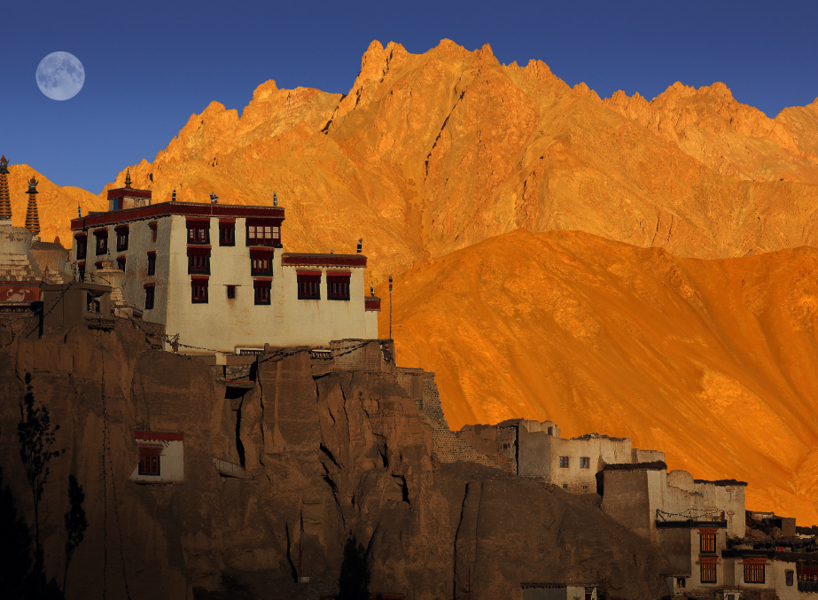
M187 354L213 351L232 354L238 348L263 348L265 344L315 347L329 346L331 339L378 339L379 300L364 299L366 257L287 254L280 245L248 245L247 219L258 220L260 214L264 218L270 208L162 203L90 214L72 222L74 234L87 235L85 260L77 258L76 235L72 258L74 262L85 263L86 277L94 275L95 262L106 258L95 252L94 233L106 227L110 260L116 264L117 259L125 259L124 301L143 310L145 321L164 324L168 336L179 334L183 345L179 351ZM273 210L276 212L271 214L277 216L278 222L283 221L284 209ZM235 220L235 245L220 245L220 217ZM187 224L192 219L209 221L209 244L189 244ZM128 249L117 252L114 228L121 224L129 225ZM209 275L189 273L189 248L208 247ZM252 274L251 248L271 253L271 274ZM148 253L155 253L156 257L153 275L147 274ZM299 271L320 272L319 300L299 300ZM334 273L348 274L348 300L329 299L327 276ZM193 277L206 277L206 303L192 301ZM269 280L269 305L256 303L254 280ZM152 308L145 307L145 284L153 285ZM229 285L235 286L234 298L228 298Z

